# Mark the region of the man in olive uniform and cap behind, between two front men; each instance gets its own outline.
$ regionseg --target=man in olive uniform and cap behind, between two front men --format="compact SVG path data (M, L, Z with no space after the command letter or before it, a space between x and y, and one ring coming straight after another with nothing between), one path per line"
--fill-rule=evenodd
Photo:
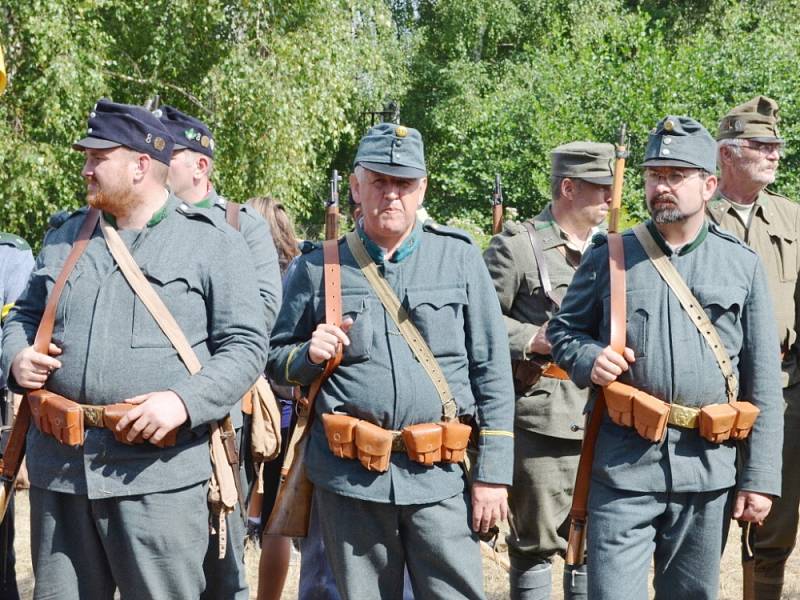
M508 222L484 254L508 328L516 413L516 535L507 538L511 597L546 600L551 561L567 547L569 510L588 390L552 364L547 323L558 310L584 250L608 212L614 147L571 142L551 154L552 202L532 220ZM585 569L564 577L564 595L585 596Z

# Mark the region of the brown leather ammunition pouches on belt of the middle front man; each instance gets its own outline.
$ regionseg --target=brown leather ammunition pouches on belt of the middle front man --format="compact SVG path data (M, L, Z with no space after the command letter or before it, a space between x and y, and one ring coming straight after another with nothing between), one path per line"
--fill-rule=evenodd
M389 469L392 452L405 452L427 467L437 462L460 463L469 445L472 427L459 421L418 423L392 431L341 413L322 415L331 453L357 458L368 471Z

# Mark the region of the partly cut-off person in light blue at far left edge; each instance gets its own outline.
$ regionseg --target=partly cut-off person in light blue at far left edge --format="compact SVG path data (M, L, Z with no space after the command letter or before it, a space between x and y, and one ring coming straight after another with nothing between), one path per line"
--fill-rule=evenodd
M3 308L0 322L14 306L17 297L25 289L31 270L33 253L28 242L13 233L0 233L0 300ZM2 329L0 329L2 332ZM14 417L14 403L6 388L6 380L0 373L0 421L11 426ZM16 557L14 555L14 503L8 506L6 516L0 525L0 598L17 600Z

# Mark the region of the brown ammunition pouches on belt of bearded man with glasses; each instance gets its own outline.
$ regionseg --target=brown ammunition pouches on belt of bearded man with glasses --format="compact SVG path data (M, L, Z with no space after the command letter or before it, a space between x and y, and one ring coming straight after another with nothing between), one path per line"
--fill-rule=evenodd
M623 427L634 427L651 442L664 439L667 425L698 429L714 444L743 440L753 429L759 410L751 402L710 404L703 408L669 404L624 383L614 382L603 392L609 418Z

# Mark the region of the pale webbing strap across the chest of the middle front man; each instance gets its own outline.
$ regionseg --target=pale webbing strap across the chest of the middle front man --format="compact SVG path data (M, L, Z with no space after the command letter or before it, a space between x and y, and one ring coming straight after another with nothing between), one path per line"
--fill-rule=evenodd
M367 278L367 281L377 294L386 312L397 325L403 339L405 339L411 347L414 356L425 369L428 377L431 378L439 394L439 399L442 401L442 414L444 418L448 421L453 420L456 417L456 401L453 398L450 386L447 384L447 379L444 373L442 373L442 368L439 366L436 357L433 355L433 352L431 352L428 344L425 343L422 334L408 316L406 309L403 308L400 299L389 284L386 283L386 280L381 277L378 272L378 267L375 266L375 263L369 257L358 234L351 231L347 234L345 239L347 240L347 246L350 248L350 252L353 253L356 262L358 262L358 266L361 267L361 272L364 274L364 277Z

